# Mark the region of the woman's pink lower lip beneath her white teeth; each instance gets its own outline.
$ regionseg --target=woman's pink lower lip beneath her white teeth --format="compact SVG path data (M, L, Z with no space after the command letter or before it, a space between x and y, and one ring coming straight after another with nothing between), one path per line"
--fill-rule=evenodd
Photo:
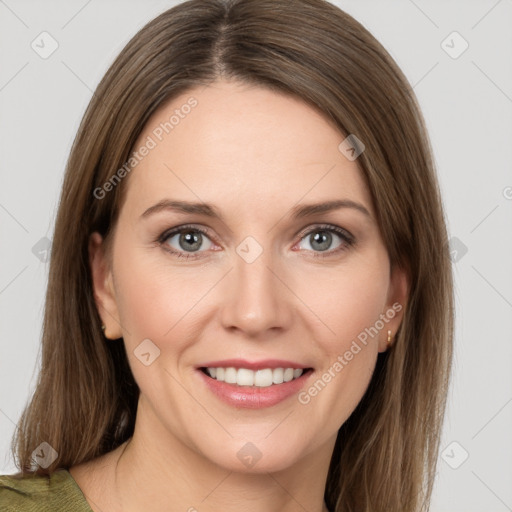
M244 409L263 409L272 407L297 394L304 386L306 379L311 375L311 370L297 379L282 384L273 384L267 387L237 386L227 384L208 377L202 370L197 370L206 386L222 401L233 407Z

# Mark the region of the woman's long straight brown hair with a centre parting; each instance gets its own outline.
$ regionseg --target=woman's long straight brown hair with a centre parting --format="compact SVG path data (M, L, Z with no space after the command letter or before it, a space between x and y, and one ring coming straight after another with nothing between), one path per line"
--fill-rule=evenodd
M122 341L106 342L88 240L108 242L127 179L93 191L130 158L162 104L219 77L291 94L366 150L369 187L391 264L409 296L393 348L340 428L326 486L338 512L428 509L453 338L453 283L432 150L410 84L376 39L324 0L191 0L148 23L107 71L73 144L56 219L42 366L13 439L22 473L93 459L134 430L139 389ZM341 142L342 138L340 138ZM58 452L34 468L43 441Z

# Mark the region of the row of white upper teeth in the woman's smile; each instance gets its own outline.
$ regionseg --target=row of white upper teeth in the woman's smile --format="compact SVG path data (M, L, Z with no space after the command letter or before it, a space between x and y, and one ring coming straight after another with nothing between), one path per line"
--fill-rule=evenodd
M206 368L212 379L238 386L256 386L266 388L273 384L282 384L298 379L303 373L302 368L264 368L249 370L248 368Z

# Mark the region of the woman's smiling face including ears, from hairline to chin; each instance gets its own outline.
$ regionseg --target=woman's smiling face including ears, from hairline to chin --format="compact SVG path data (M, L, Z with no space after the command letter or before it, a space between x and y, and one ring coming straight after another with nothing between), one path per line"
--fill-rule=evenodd
M255 472L330 456L406 296L343 139L300 100L220 81L147 123L112 266L97 234L91 261L135 436L162 454Z

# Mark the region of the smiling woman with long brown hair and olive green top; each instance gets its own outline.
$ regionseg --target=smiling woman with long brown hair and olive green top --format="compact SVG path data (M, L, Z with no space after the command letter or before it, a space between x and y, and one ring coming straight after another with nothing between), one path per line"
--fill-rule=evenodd
M452 325L431 149L384 48L323 0L182 3L80 126L0 503L427 510Z

